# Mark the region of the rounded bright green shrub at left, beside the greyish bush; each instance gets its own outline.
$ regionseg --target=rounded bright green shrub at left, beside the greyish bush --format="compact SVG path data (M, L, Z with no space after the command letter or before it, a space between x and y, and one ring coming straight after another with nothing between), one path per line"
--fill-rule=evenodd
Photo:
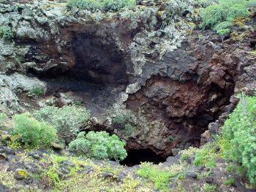
M49 147L56 139L56 130L44 122L33 118L26 112L14 115L14 134L20 135L22 142L31 147Z

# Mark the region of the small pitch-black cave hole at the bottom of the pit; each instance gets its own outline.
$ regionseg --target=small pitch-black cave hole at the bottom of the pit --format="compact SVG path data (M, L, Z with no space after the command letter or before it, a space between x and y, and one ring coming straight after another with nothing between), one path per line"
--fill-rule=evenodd
M141 162L159 164L165 162L167 158L157 155L157 153L154 153L154 151L150 149L128 150L127 154L127 158L120 162L121 165L135 166Z

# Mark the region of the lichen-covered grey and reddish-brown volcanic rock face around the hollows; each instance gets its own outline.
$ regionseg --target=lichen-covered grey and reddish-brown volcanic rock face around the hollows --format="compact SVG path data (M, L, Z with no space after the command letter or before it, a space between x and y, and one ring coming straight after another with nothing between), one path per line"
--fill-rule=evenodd
M0 42L1 111L79 100L94 116L91 129L118 134L128 150L166 156L206 142L235 106L233 94L255 89L253 22L237 30L240 42L222 43L195 30L192 2L174 2L116 13L1 4L0 23L13 32ZM36 85L45 95L28 99ZM115 123L127 113L132 123Z

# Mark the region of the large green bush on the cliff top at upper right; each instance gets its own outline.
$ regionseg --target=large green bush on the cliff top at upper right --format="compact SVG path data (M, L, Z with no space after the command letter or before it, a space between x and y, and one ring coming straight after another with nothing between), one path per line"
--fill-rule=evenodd
M227 34L235 18L243 18L249 15L248 7L252 1L246 0L220 0L218 4L211 4L200 9L203 29L211 28L218 34Z

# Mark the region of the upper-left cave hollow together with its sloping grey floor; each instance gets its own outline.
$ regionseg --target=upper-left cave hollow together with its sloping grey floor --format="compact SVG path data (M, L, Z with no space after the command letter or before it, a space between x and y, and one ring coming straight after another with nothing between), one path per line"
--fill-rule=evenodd
M127 53L112 37L88 31L69 31L68 37L67 47L59 55L50 55L53 58L48 56L47 61L38 64L43 70L31 67L28 73L46 82L46 95L55 96L59 106L76 102L95 117L103 117L128 84Z

